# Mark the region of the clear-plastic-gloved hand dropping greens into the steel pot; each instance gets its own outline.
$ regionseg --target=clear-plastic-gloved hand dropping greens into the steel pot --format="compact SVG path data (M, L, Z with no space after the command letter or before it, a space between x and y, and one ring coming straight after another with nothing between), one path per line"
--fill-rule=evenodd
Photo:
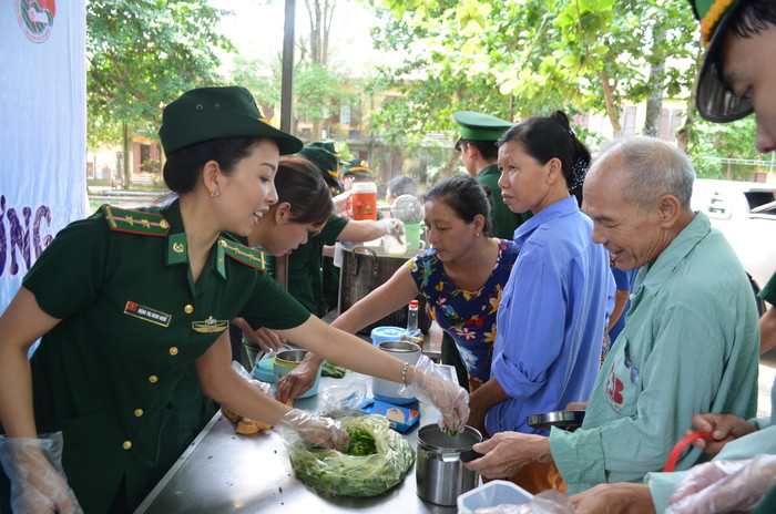
M420 356L412 380L399 389L399 394L436 405L442 413L439 426L445 431L456 433L469 419L469 394L458 382L453 382L450 373L442 371L426 356Z

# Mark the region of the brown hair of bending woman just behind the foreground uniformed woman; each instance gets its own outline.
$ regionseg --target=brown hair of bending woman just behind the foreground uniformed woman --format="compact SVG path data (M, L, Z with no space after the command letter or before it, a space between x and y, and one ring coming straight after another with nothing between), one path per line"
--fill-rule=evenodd
M277 205L290 204L294 223L323 225L334 213L331 193L318 167L304 157L282 155L275 175Z

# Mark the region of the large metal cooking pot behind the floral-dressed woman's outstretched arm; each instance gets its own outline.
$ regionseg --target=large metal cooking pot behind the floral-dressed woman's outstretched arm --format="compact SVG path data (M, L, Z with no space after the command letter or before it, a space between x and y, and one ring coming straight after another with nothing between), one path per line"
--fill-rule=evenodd
M386 255L382 247L354 246L343 248L343 266L339 270L339 313L385 284L394 273L419 251L405 255ZM426 300L418 296L418 328L428 332L431 319L426 313ZM391 312L385 318L365 327L361 333L369 333L375 327L406 327L407 307Z

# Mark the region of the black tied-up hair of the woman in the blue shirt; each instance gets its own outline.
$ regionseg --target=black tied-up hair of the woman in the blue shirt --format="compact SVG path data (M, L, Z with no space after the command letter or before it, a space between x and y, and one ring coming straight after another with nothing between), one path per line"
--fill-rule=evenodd
M555 111L548 117L530 117L512 126L496 145L501 147L510 141L520 144L542 165L557 157L569 193L582 204L582 182L590 167L590 151L576 138L563 111Z

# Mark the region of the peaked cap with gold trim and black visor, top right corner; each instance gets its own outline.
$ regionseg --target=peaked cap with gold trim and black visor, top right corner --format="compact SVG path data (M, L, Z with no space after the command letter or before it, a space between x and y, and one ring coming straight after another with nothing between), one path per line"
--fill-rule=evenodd
M701 116L709 122L727 123L748 116L752 102L737 96L722 76L719 55L731 20L742 0L690 0L695 18L701 21L701 40L706 55L701 68L696 104Z

